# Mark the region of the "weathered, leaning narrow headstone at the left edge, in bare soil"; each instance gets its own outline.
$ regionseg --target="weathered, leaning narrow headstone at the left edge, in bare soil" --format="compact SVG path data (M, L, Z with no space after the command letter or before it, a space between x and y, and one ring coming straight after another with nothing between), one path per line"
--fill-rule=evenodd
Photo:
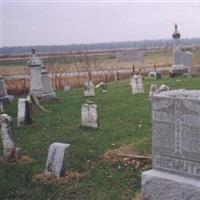
M13 119L7 115L0 115L1 139L3 143L3 154L6 161L15 161L19 158L19 148L15 146L14 134L12 130Z

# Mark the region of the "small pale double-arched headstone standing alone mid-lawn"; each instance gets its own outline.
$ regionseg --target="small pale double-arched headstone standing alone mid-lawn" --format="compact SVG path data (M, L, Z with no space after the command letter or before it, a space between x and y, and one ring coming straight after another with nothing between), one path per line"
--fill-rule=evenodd
M81 107L82 126L98 128L97 105L85 103Z

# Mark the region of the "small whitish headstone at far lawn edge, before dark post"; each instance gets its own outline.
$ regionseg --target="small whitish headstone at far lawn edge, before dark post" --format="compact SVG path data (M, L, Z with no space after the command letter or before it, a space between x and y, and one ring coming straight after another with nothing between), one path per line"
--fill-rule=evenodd
M141 75L134 75L130 84L133 94L144 93L144 86Z

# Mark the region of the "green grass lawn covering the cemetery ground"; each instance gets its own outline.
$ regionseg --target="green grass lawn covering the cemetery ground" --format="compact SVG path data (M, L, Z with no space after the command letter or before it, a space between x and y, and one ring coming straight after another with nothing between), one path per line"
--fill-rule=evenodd
M122 163L102 161L107 150L134 145L140 152L151 151L151 83L165 83L171 89L200 89L200 78L146 79L145 93L132 95L129 81L109 84L107 93L97 90L92 99L98 105L100 127L80 126L80 109L86 98L82 89L58 92L60 103L44 105L48 112L34 113L30 127L17 127L17 100L6 107L14 118L17 145L33 159L31 164L0 162L0 199L132 199L140 192L141 170ZM141 124L142 126L139 126ZM68 185L39 183L33 179L45 169L48 147L53 142L71 144L68 170L83 173ZM115 145L113 145L115 144ZM3 155L0 144L0 155Z

